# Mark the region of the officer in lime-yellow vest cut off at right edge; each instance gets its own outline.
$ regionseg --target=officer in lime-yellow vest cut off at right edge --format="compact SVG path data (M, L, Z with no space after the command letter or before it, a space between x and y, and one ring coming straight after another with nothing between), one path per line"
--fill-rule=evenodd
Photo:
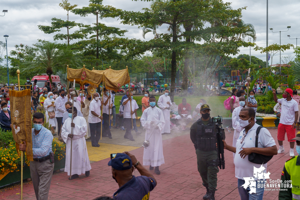
M300 132L293 139L296 140L296 151L300 155ZM285 162L281 172L279 199L300 199L300 156L294 156ZM290 187L292 185L292 187Z

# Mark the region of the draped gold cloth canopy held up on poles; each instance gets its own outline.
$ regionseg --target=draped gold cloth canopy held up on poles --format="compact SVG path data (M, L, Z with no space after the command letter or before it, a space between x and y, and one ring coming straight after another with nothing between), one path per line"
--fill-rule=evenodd
M123 70L88 70L85 67L81 69L68 68L68 81L75 82L84 85L89 83L95 87L98 87L101 82L104 82L105 88L109 90L117 90L123 85L130 82L128 69Z

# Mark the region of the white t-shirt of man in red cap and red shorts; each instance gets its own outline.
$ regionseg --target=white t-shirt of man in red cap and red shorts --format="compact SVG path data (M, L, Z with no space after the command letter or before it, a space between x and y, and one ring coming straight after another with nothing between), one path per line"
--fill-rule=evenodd
M292 125L295 121L295 112L298 111L298 103L294 99L287 101L286 99L278 99L281 103L280 124Z

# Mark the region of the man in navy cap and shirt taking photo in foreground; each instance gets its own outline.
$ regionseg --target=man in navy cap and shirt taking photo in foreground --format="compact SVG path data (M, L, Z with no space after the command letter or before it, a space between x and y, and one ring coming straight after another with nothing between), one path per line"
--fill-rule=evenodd
M134 155L125 151L117 153L108 162L111 166L113 179L119 184L119 189L113 198L117 200L147 200L150 191L156 186L156 180L150 172L144 168ZM135 177L132 172L137 169L141 176Z

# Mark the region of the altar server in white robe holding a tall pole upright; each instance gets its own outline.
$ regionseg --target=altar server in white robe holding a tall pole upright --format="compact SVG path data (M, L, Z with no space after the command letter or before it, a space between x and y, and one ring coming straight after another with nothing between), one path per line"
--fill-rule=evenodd
M89 176L91 165L89 163L89 155L86 149L86 135L87 124L83 117L77 116L77 109L74 107L73 123L72 122L72 108L69 109L69 118L62 126L62 139L67 144L66 146L66 163L65 172L70 176L70 160L72 151L72 176L71 179L78 178L80 174ZM73 134L71 134L71 127L73 127ZM72 150L71 150L72 138Z

